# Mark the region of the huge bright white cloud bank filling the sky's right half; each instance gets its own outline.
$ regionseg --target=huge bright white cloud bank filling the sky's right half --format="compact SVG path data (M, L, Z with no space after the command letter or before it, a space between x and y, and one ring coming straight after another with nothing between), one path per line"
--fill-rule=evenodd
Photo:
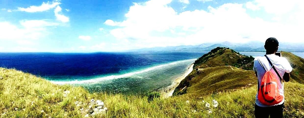
M125 14L126 20L107 20L105 24L117 26L110 30L110 34L133 46L130 48L264 41L269 37L297 42L299 38L296 37L302 34L302 21L293 20L296 23L286 24L254 18L247 14L243 4L227 3L216 8L209 6L207 10L177 13L167 5L170 2L150 0L134 3Z

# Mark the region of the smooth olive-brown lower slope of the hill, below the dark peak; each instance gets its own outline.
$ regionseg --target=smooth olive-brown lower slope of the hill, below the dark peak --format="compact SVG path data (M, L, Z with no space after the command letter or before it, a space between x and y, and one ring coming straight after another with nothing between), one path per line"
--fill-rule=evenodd
M193 70L181 81L173 94L207 95L213 92L246 88L256 85L256 83L253 71L234 66L217 66Z

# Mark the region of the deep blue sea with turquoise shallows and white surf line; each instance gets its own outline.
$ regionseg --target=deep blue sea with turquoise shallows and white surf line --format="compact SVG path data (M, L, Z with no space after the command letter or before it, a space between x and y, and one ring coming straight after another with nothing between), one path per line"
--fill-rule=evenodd
M208 52L0 53L0 67L91 92L145 93L170 86ZM261 56L265 52L240 52ZM295 53L303 58L304 53Z

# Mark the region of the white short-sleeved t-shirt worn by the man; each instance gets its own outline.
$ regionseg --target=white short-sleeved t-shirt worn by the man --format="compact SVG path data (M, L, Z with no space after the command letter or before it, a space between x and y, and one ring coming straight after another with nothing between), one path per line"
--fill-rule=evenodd
M279 57L278 55L275 55L275 54L267 55L267 57L273 63L273 66L275 66L275 69L278 71L278 73L280 74L282 79L283 79L283 75L284 75L285 72L290 73L292 71L292 67L290 66L290 64L289 64L289 62L287 61L286 58ZM254 59L253 71L257 72L257 79L259 81L258 86L261 86L261 79L263 78L264 74L266 73L266 70L263 68L263 66L261 66L260 63L263 64L263 66L266 68L266 70L269 71L271 69L271 65L270 65L270 63L268 62L268 60L265 56L259 56L259 57L256 57ZM275 73L275 71L273 69L271 69L270 71L273 71L273 73ZM278 80L278 83L279 83L279 93L281 95L283 95L283 97L284 97L284 83L281 84L280 80ZM281 104L284 103L284 101L285 101L285 98L283 98L282 102L280 102L278 104L275 104L275 105L281 105ZM262 104L257 99L257 95L256 95L255 103L260 107L275 106L275 105L264 105L264 104Z

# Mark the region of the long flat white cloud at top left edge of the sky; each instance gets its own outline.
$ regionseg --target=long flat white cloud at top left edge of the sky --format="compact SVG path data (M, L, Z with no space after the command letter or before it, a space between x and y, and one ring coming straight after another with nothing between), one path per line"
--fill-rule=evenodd
M29 6L28 8L22 8L22 7L18 7L18 11L24 11L24 12L43 12L43 11L47 11L49 9L55 8L57 5L59 5L60 2L43 2L40 6Z

